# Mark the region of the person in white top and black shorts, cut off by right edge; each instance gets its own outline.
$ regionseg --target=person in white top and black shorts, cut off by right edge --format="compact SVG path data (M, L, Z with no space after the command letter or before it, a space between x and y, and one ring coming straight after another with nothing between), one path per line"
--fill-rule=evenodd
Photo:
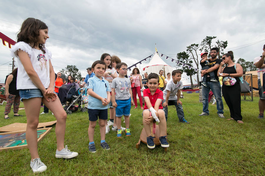
M258 68L258 87L259 87L259 119L264 119L265 109L265 45L263 46L263 53L259 57L254 58L254 65Z

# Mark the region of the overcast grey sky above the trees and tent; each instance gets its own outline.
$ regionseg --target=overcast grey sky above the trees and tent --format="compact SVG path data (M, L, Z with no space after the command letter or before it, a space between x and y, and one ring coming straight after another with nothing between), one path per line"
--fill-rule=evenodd
M100 60L102 53L117 55L130 66L153 54L155 43L159 53L176 59L186 46L200 44L206 36L228 40L225 51L232 50L235 60L253 61L265 44L261 0L0 2L0 32L15 41L26 18L47 24L50 38L45 46L52 52L55 72L76 65L85 76L86 68ZM12 57L1 43L0 55L0 82L4 82ZM183 81L190 84L187 78L183 75Z

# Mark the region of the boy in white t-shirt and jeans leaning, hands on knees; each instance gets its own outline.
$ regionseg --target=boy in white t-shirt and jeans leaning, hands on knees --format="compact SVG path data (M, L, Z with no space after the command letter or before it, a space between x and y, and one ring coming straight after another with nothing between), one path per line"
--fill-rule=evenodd
M166 121L168 120L168 106L175 105L179 121L189 123L184 118L182 102L179 100L181 89L183 89L183 83L180 81L181 74L182 72L180 70L174 70L172 72L172 80L167 83L167 86L163 90L164 100L162 106L165 111Z

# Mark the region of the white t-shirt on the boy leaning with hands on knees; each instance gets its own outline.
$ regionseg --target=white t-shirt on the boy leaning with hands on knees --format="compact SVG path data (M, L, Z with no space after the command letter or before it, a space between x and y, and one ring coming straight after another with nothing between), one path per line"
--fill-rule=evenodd
M169 82L167 82L167 85L166 85L165 89L163 90L164 100L167 97L168 90L170 91L168 100L176 100L176 99L178 99L176 94L177 94L179 89L183 89L182 81L177 82L177 84L175 84L173 82L173 80L170 80Z

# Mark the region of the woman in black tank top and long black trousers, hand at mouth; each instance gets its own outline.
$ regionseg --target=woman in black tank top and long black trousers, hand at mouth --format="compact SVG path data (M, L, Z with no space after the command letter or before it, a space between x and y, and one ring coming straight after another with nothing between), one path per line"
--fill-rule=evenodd
M239 77L243 75L243 68L240 64L233 62L234 56L232 51L228 51L222 58L223 61L220 64L217 76L223 77L223 97L230 110L231 116L231 118L227 120L235 120L238 123L244 123L241 116L241 92L239 84ZM223 67L224 64L228 65Z

